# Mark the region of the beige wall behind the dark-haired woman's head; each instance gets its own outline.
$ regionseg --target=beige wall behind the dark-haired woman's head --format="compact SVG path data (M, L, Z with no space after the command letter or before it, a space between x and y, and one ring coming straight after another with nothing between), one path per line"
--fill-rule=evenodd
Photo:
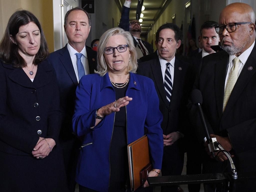
M49 46L54 51L52 0L0 0L0 38L2 39L10 16L18 9L32 12L39 20Z

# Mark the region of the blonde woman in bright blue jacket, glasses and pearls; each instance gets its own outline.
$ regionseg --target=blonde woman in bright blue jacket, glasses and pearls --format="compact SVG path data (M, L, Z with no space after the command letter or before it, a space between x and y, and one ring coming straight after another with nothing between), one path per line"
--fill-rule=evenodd
M144 130L154 168L149 176L160 172L159 99L153 81L133 73L136 58L129 32L110 29L99 41L98 71L78 85L73 131L83 139L76 175L80 191L129 191L127 144L142 137Z

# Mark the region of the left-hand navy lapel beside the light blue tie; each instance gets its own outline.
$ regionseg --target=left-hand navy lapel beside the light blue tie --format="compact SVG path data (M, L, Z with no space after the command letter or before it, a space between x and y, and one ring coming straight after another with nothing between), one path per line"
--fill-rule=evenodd
M62 65L65 67L67 73L69 74L69 77L73 81L74 85L78 85L76 73L73 68L73 64L70 58L70 54L67 48L67 44L65 47L63 47L60 51L60 57L59 57Z

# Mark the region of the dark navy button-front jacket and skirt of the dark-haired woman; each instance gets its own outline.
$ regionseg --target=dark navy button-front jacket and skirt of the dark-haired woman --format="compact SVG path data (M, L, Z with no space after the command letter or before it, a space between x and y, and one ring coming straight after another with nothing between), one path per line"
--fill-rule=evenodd
M54 69L39 63L32 82L22 68L0 61L0 97L0 191L66 191ZM56 142L43 159L32 155L39 137Z

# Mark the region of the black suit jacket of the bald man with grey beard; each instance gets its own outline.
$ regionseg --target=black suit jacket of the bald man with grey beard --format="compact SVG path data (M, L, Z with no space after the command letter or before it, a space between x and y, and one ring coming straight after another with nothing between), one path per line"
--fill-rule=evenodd
M210 133L229 136L233 146L238 170L256 170L256 46L254 46L222 113L225 79L229 55L225 51L202 58L200 75L195 87L202 92L202 109ZM205 137L200 119L194 123L199 127L201 140Z

